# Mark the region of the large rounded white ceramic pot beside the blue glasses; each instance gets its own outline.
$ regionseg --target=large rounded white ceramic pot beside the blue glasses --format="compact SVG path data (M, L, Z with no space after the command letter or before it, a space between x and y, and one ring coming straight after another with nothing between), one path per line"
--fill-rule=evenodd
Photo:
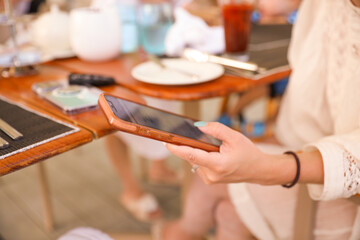
M116 8L78 8L70 13L70 44L85 61L106 61L121 49L121 22Z

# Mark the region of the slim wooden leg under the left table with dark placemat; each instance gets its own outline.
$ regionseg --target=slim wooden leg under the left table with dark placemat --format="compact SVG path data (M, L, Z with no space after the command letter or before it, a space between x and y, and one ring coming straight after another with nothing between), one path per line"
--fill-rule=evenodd
M52 231L54 229L54 219L53 219L50 191L49 191L49 185L47 181L44 162L39 162L37 164L37 167L38 167L41 198L43 202L44 226L47 231Z

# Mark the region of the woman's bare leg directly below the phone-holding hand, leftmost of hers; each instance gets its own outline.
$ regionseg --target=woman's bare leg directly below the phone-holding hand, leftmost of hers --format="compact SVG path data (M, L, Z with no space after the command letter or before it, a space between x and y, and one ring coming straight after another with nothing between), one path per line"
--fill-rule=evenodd
M166 224L164 239L200 240L215 224L217 204L228 199L225 184L206 185L195 176L186 198L182 217Z

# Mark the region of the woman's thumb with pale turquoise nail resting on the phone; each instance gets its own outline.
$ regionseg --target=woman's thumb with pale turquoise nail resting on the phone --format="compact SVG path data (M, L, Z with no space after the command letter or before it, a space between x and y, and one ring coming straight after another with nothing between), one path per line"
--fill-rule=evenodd
M227 144L234 140L235 134L239 134L239 132L219 122L208 122L205 126L199 127L199 129L203 133L213 136L214 138L217 138Z

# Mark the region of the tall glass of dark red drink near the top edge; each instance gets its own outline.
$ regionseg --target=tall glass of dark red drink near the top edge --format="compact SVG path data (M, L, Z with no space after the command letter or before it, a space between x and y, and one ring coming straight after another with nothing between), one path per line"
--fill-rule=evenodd
M229 3L222 6L227 53L244 53L251 29L253 6L247 3Z

